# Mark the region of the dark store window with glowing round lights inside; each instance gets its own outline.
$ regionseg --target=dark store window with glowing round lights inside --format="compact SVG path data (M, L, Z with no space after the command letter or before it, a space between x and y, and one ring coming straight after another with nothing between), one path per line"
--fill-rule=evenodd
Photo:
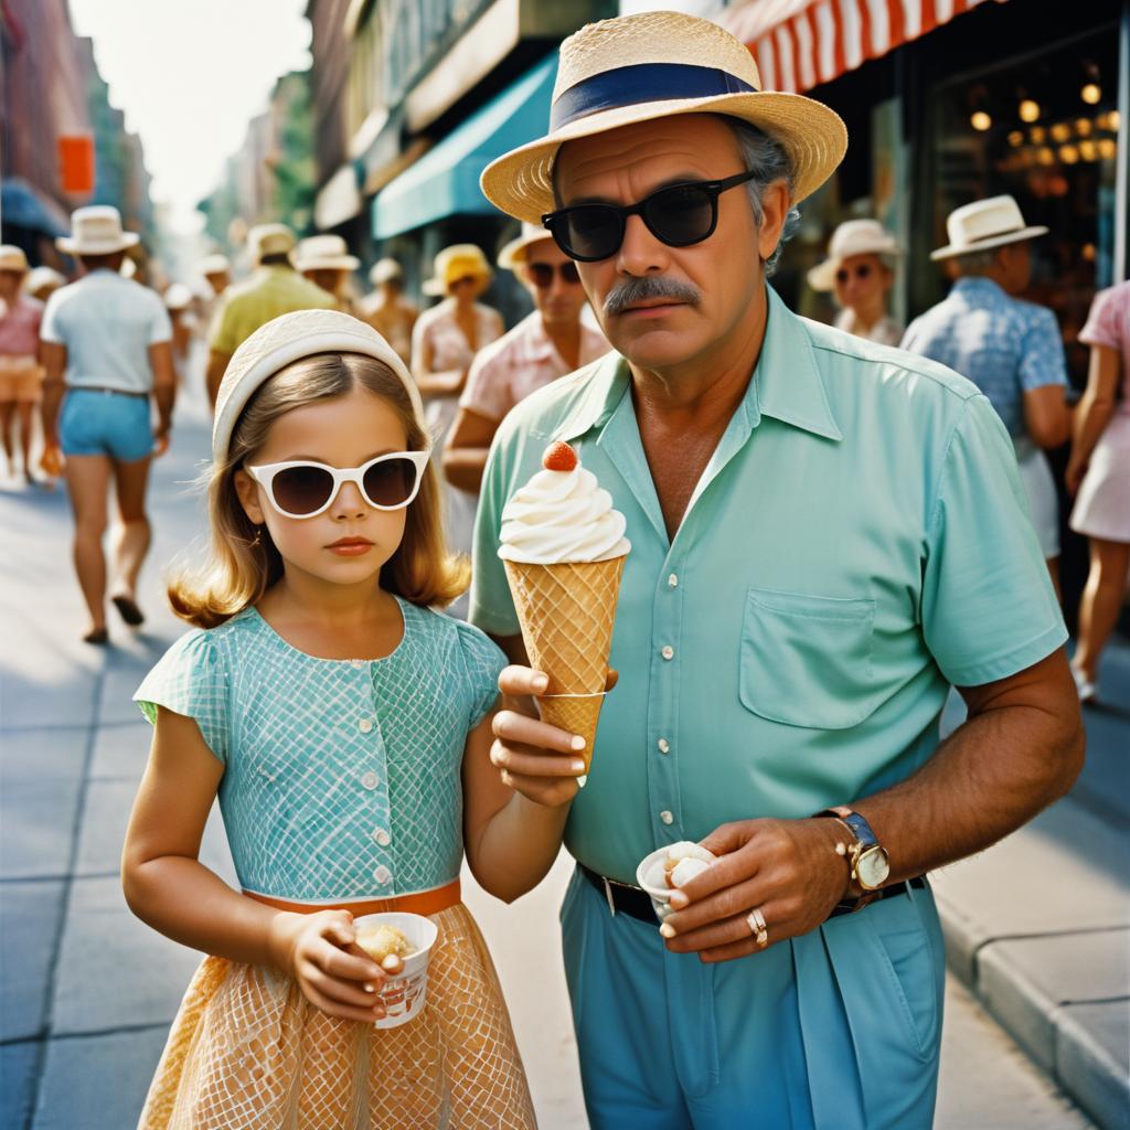
M931 99L933 246L971 200L1011 193L1033 243L1026 297L1055 311L1072 383L1086 383L1078 333L1095 290L1114 273L1118 36L1098 31L1054 49L945 81ZM939 292L945 280L939 279ZM940 293L939 293L940 297Z

